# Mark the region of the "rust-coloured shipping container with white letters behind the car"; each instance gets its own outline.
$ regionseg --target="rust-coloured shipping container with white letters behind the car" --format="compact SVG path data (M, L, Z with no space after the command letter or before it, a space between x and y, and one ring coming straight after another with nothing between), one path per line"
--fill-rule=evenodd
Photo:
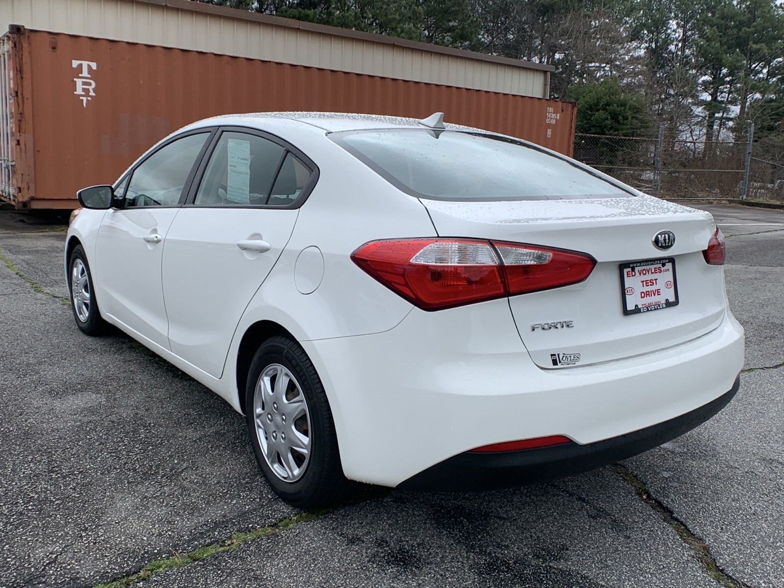
M234 112L339 111L445 120L572 154L558 100L13 26L0 41L0 198L69 209L163 136Z

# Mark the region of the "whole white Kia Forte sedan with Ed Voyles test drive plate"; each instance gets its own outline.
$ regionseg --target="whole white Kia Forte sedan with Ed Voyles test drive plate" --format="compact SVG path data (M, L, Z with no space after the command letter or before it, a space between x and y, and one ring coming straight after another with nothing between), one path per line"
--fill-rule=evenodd
M78 198L78 328L223 397L297 506L572 474L739 387L710 214L440 113L210 118Z

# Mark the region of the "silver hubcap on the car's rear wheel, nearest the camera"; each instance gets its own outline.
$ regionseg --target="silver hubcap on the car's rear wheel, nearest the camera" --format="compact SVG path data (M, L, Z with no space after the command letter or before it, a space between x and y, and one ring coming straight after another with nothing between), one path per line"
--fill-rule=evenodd
M285 482L303 477L310 461L310 412L292 372L264 368L253 392L256 437L267 465Z

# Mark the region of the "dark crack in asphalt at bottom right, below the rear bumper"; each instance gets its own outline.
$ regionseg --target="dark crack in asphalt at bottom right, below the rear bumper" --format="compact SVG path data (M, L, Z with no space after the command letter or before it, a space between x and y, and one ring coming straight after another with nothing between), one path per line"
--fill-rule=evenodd
M724 588L751 588L749 584L746 584L742 580L734 578L729 575L728 572L725 572L716 561L716 558L713 557L713 554L710 553L710 546L700 538L699 535L695 535L684 521L681 521L681 519L676 517L669 506L666 506L659 499L655 498L645 486L644 482L637 477L632 470L622 463L615 463L612 467L622 480L626 481L626 483L634 489L634 492L637 493L637 497L650 506L655 513L662 517L662 521L669 524L670 527L677 532L681 541L694 552L695 556L702 564L702 567L706 569L711 578L720 583L721 586L724 586Z

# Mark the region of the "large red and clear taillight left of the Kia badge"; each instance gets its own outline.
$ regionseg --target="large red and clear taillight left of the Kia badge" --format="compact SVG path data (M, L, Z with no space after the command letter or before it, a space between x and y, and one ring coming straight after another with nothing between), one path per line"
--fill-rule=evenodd
M596 265L585 253L478 239L371 241L351 259L423 310L575 284Z

